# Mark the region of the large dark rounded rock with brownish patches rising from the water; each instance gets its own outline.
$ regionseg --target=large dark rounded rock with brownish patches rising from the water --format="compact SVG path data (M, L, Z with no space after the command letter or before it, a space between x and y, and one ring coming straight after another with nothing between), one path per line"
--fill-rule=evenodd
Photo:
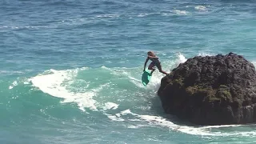
M166 114L198 125L256 122L255 68L234 53L188 59L162 78L158 96Z

